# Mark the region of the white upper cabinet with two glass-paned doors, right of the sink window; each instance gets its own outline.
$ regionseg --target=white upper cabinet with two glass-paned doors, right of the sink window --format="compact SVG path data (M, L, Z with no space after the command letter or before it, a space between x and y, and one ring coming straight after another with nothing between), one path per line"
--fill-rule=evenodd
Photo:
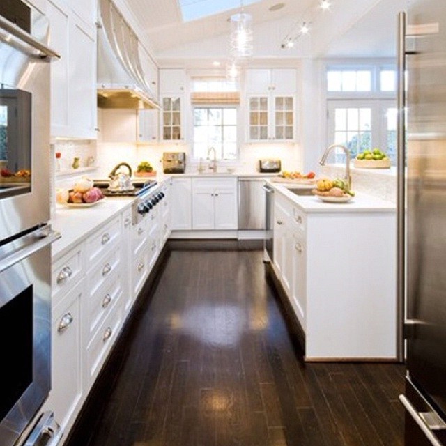
M248 141L297 139L297 78L294 68L247 70Z

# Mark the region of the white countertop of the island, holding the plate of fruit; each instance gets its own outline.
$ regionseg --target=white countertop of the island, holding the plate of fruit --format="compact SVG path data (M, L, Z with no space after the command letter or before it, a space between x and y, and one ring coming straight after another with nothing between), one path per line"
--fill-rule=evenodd
M306 213L396 212L396 206L391 201L385 201L368 194L357 193L355 194L355 197L347 203L326 203L316 196L299 196L288 189L289 187L298 188L308 186L288 184L288 187L286 187L284 183L274 183L273 181L268 181L268 183L274 187L277 192L289 198Z

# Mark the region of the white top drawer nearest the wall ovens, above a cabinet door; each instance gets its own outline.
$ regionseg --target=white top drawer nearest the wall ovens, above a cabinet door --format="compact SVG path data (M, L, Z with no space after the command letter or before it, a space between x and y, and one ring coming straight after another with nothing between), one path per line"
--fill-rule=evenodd
M82 245L79 245L54 263L52 268L53 298L57 298L59 293L65 295L72 289L72 286L79 282L79 277L84 272L82 254Z

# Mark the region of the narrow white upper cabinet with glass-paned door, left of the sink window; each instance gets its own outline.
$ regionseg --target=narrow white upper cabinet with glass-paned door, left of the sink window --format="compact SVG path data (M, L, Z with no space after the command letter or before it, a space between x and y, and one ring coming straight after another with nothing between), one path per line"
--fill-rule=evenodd
M185 140L185 85L185 70L160 70L161 141Z

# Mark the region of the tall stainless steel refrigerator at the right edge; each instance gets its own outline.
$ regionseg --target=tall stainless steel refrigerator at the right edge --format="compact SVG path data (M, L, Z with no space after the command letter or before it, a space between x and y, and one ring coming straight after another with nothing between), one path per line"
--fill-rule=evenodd
M446 1L410 1L399 24L399 207L405 244L399 241L401 261L406 259L400 291L406 287L408 371L406 394L400 399L406 408L405 445L445 446Z

